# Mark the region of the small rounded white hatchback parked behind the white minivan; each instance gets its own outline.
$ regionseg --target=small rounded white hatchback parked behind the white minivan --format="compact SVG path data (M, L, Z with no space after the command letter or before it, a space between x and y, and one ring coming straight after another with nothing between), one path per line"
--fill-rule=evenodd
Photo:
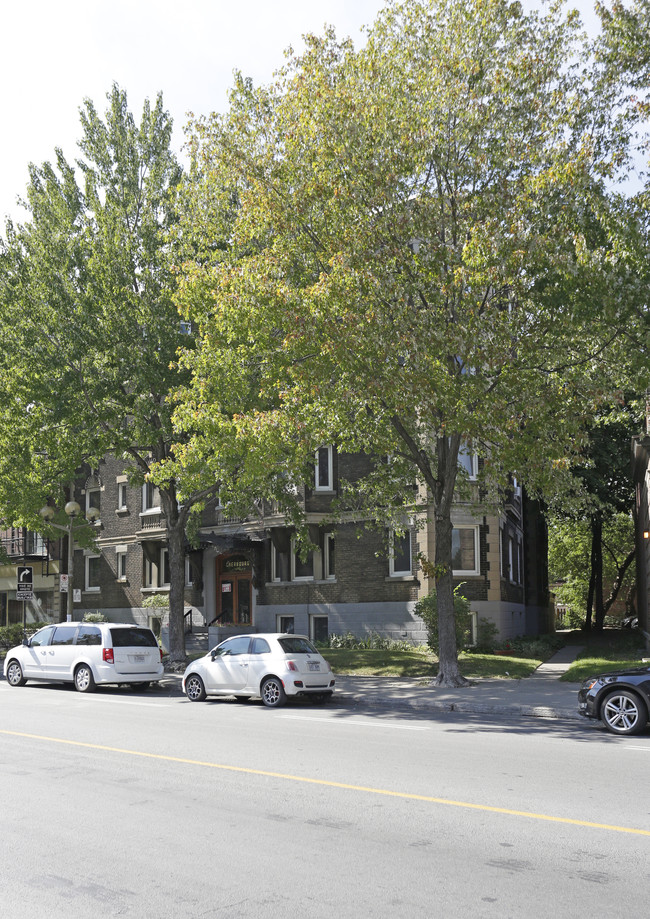
M289 696L326 702L334 692L332 669L306 635L284 633L235 635L183 674L183 691L191 702L206 696L260 696L269 708Z

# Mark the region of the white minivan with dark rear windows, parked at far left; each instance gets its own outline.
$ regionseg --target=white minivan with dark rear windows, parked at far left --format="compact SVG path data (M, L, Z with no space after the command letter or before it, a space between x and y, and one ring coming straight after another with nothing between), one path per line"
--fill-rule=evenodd
M39 629L7 652L10 686L27 680L73 683L79 692L128 683L145 689L163 675L162 651L151 629L116 622L62 622Z

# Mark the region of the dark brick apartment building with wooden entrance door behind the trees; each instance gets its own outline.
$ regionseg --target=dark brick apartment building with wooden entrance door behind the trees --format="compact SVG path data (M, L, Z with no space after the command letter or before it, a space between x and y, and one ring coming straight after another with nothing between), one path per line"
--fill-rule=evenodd
M471 483L477 457L461 461ZM229 517L218 502L205 510L199 544L187 548L185 603L188 617L211 626L211 642L225 624L315 639L349 631L426 640L414 607L429 591L418 554L433 557L432 526L423 520L400 535L328 522L340 477L354 477L359 462L332 447L317 452L313 481L304 489L317 548L306 558L270 508L247 519ZM169 591L166 525L156 489L129 485L122 464L107 457L79 480L76 500L82 509L99 508L101 517L98 552L75 550L75 618L101 610L118 621L150 621L146 598ZM453 524L454 579L464 585L475 622L491 620L502 638L551 630L545 523L521 487L513 483L499 514L483 509L477 515L475 505L457 503ZM56 575L53 567L48 589L55 615L65 605L56 598Z

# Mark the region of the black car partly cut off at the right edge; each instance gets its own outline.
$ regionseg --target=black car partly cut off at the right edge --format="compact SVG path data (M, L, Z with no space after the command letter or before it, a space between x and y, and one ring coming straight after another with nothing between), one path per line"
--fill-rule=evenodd
M578 711L599 718L612 734L639 734L650 712L650 667L617 670L585 680Z

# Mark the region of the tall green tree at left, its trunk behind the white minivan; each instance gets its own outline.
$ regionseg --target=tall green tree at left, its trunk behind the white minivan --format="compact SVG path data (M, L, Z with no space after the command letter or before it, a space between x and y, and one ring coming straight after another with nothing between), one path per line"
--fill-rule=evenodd
M30 167L29 220L0 251L0 509L34 528L82 463L123 457L134 483L173 457L170 391L190 336L172 300L170 230L182 178L162 97L136 123L114 86L87 100L80 156ZM184 656L185 530L212 489L159 480L171 569L170 644Z

